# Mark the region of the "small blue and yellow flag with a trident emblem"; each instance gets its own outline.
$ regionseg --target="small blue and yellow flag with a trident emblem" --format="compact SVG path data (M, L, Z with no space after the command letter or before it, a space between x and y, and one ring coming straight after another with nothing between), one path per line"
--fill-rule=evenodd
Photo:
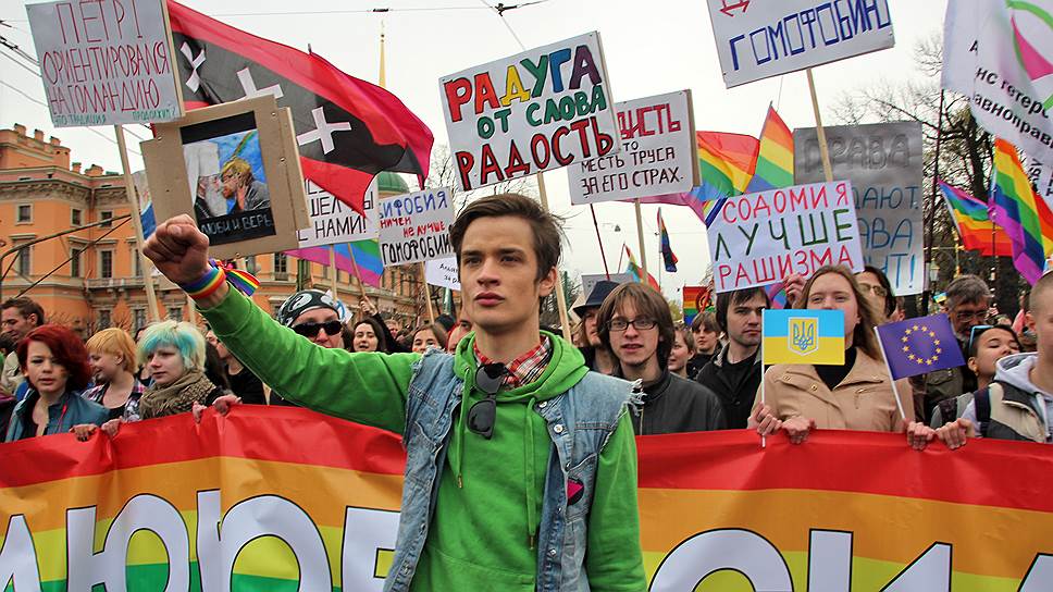
M844 312L840 310L765 310L764 363L844 363Z

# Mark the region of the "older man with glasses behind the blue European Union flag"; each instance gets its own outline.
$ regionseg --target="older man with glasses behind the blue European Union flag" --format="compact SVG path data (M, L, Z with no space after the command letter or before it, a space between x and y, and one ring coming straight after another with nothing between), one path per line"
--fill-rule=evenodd
M986 324L991 306L991 291L976 275L959 275L946 289L947 317L962 349L968 356L969 334L974 326ZM932 418L932 409L941 400L976 391L976 374L965 366L939 370L925 375L925 419Z

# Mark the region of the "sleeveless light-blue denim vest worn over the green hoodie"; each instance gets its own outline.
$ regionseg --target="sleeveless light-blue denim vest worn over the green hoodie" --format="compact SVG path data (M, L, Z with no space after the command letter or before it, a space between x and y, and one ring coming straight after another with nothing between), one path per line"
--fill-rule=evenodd
M406 408L406 480L395 558L385 591L409 590L417 570L451 433L463 381L454 358L437 351L416 365ZM556 454L550 455L537 536L537 590L587 591L584 571L590 498L567 503L567 480L593 491L599 453L618 427L632 384L590 372L567 393L535 405L548 423Z

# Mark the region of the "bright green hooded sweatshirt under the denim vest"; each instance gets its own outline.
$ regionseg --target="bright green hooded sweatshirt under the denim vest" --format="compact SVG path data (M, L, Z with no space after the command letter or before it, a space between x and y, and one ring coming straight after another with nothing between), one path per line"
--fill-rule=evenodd
M402 433L416 354L350 354L300 338L251 300L230 291L202 310L216 336L265 384L318 411ZM417 567L414 590L532 591L537 572L548 458L555 454L534 404L567 392L587 373L581 354L555 335L552 358L531 384L500 392L486 440L454 417L438 499ZM483 398L474 390L474 336L457 349L464 380L460 409ZM600 452L589 517L585 570L592 590L646 589L636 509L636 448L623 416Z

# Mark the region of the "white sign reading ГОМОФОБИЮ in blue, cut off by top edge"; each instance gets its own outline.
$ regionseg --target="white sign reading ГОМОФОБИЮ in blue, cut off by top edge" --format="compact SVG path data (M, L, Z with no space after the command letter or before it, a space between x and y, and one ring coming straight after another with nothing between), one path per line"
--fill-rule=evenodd
M728 88L895 45L887 0L707 0Z

